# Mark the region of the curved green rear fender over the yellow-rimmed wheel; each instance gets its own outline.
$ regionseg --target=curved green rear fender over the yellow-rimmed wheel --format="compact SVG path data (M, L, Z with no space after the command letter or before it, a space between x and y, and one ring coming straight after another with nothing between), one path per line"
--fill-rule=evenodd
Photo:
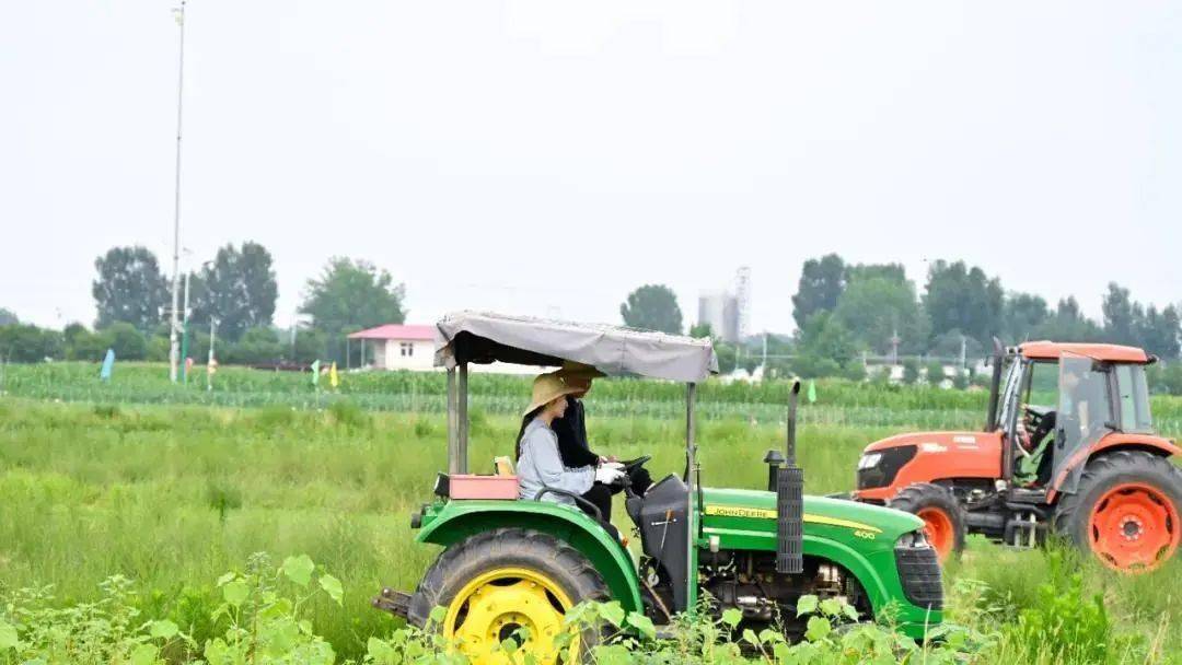
M424 520L417 542L448 547L492 528L519 527L550 534L591 561L613 600L630 612L643 612L641 581L631 555L598 522L582 510L547 501L449 501Z

